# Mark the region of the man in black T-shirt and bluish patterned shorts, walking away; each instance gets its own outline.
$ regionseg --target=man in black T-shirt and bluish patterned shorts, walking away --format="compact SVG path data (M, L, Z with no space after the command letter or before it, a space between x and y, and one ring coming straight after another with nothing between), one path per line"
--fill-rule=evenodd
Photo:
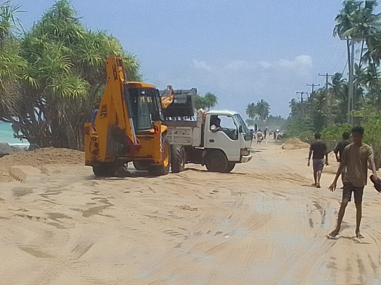
M326 157L325 159L325 165L328 165L328 151L327 146L323 141L320 140L321 136L320 133L315 133L315 141L312 142L310 146L310 151L308 154L308 163L307 166L310 166L310 160L311 160L311 154L312 155L312 167L314 169L314 181L315 183L312 184L316 186L317 188L320 188L320 177L322 177L322 171L324 168L324 155Z

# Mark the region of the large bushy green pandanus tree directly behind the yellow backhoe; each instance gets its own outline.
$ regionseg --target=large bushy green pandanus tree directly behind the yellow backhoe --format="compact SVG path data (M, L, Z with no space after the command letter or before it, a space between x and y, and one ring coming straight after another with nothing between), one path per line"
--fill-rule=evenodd
M108 56L122 55L127 78L141 78L138 59L113 36L82 25L67 0L24 32L19 54L26 66L8 120L19 138L40 147L83 148L83 123L104 90Z

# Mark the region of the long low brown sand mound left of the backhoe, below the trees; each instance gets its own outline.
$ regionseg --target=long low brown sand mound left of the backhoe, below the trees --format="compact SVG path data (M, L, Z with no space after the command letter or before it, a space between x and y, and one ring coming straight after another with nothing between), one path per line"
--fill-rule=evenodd
M0 165L30 165L40 167L46 164L83 164L84 152L72 149L55 149L53 147L45 149L36 149L31 152L21 152L6 155L0 158Z

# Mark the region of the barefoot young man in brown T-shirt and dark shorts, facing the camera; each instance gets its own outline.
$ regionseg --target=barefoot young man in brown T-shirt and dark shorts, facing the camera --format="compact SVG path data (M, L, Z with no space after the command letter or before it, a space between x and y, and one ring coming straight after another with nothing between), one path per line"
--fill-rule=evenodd
M356 206L356 237L361 239L364 236L360 233L360 223L362 216L362 195L364 186L367 185L368 178L368 162L371 165L373 175L377 179L376 165L373 159L373 152L370 146L362 142L364 135L364 129L360 126L352 128L352 144L349 144L344 149L343 157L339 168L337 169L336 177L333 180L330 191L333 192L336 189L337 180L344 167L347 168L347 172L344 175L344 188L343 198L341 200L341 206L337 219L336 229L328 234L329 237L336 237L339 234L341 222L343 221L345 208L348 202L351 201L352 192Z

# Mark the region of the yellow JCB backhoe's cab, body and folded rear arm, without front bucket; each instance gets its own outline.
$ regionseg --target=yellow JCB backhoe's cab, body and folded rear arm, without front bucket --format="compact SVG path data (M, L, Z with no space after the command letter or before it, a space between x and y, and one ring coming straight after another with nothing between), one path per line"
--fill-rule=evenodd
M111 176L130 161L138 170L168 174L171 151L159 91L151 84L127 82L122 57L110 56L106 72L94 125L85 123L85 165L93 167L95 176Z

